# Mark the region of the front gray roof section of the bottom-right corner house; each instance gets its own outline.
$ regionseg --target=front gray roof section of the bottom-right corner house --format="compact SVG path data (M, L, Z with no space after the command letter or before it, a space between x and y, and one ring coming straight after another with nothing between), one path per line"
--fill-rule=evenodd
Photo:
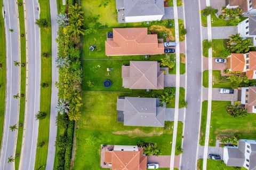
M227 166L243 166L245 157L238 148L228 148Z

